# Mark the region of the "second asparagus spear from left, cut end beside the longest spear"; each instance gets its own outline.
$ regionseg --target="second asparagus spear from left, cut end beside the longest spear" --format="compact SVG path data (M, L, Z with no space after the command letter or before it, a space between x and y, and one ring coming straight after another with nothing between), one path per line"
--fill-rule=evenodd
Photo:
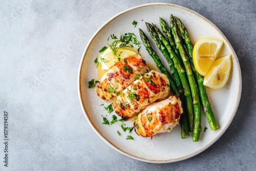
M164 49L167 49L167 52L169 54L169 58L166 58L167 60L171 60L174 63L175 69L177 69L177 72L179 74L179 77L182 82L184 95L186 97L186 107L187 107L187 116L188 116L188 128L189 131L193 131L193 125L194 125L194 107L193 107L193 100L189 89L189 84L187 82L187 78L185 75L185 70L181 65L181 62L178 60L178 57L176 53L173 51L172 47L169 44L169 41L166 37L163 36L161 31L158 29L156 25L153 24L153 26L148 25L148 29L150 30L152 36L154 37L157 44L162 44L164 46ZM154 27L154 28L153 28Z

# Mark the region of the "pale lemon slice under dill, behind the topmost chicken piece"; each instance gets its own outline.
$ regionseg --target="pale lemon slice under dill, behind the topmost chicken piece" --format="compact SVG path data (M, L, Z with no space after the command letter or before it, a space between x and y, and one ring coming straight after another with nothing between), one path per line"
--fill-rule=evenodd
M101 62L102 70L109 70L116 62L119 60L134 56L137 53L127 49L119 49L117 50L116 55L114 55L113 51L110 48L107 48L102 54L99 55L99 62Z

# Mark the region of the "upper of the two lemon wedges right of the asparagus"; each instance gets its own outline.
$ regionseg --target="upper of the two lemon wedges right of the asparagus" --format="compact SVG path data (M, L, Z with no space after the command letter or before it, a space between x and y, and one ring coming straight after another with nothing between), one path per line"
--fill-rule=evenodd
M202 38L194 46L193 59L197 72L206 75L212 63L219 55L223 41L214 38Z

